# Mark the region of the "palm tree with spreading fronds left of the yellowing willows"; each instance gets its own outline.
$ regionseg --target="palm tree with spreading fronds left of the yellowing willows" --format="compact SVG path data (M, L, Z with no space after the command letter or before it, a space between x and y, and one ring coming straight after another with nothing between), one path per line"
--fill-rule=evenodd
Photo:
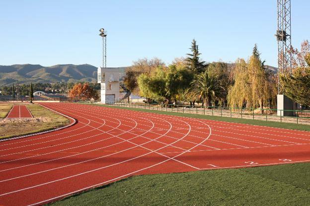
M196 75L187 91L187 96L189 98L202 98L205 107L210 107L212 99L221 99L225 93L225 88L221 85L218 76L210 75L206 71Z

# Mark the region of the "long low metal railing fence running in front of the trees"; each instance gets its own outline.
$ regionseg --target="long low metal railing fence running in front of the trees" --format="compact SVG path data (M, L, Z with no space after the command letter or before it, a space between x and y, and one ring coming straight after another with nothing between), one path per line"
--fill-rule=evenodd
M95 101L78 101L82 103L103 104ZM174 104L149 104L149 103L127 103L127 102L105 102L105 104L119 107L129 107L137 109L157 110L166 112L177 112L197 115L211 115L220 117L231 117L241 119L262 120L270 122L286 122L295 124L310 125L310 110L277 110L260 108L231 108L231 107L201 107L190 105ZM280 111L281 115L277 115ZM294 116L282 116L284 111L292 112Z

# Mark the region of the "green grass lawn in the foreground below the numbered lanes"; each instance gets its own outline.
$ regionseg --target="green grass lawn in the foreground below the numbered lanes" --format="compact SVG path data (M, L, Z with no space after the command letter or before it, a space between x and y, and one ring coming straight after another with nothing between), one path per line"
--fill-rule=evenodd
M310 163L134 176L52 206L309 206Z

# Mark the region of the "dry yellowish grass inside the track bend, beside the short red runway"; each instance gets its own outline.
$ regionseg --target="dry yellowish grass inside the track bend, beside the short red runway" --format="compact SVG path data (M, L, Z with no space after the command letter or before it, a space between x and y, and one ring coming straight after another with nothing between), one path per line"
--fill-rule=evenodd
M19 137L63 127L70 123L69 119L52 112L38 104L27 105L34 118L44 118L45 122L0 123L0 138Z

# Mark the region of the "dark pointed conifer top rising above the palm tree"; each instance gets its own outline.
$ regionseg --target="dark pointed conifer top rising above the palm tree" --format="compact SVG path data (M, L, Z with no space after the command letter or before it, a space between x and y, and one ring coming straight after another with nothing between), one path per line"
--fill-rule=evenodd
M196 74L204 72L206 68L205 62L201 62L199 60L199 56L201 54L199 53L198 45L195 39L193 39L192 46L189 49L192 51L192 54L186 54L189 56L185 59L186 66Z

